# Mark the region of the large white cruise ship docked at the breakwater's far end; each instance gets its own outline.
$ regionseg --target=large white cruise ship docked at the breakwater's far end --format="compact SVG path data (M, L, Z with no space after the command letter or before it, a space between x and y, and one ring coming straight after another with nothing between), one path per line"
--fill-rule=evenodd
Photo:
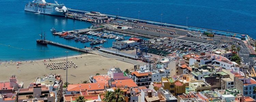
M45 0L34 0L25 5L25 11L47 15L65 16L67 13L67 7L64 4L58 4L57 1L54 2L55 3L47 3Z

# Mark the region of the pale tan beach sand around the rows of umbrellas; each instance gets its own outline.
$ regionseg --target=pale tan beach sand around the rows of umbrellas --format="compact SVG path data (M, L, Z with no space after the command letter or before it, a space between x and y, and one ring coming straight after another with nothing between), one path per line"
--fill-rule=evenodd
M78 66L77 68L68 68L68 82L72 84L81 83L81 81L85 80L89 81L89 75L95 75L96 73L106 74L113 67L119 67L122 70L133 69L133 64L95 54L71 56L68 57L68 61L72 61ZM10 64L2 62L0 65L0 81L9 81L11 75L16 75L18 82L24 82L24 87L27 87L31 81L41 75L56 73L62 75L63 82L66 82L66 70L49 70L44 65L44 63L52 62L66 62L66 57L52 61L48 59L46 61L22 62L20 65L16 65L15 62Z

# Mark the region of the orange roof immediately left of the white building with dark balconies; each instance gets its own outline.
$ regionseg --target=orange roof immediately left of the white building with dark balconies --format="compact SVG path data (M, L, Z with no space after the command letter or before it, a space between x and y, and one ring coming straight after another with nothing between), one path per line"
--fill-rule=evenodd
M133 82L132 79L115 80L111 82L111 85L115 85L115 87L125 86L125 85L127 85L128 87L138 87L138 85L135 82Z

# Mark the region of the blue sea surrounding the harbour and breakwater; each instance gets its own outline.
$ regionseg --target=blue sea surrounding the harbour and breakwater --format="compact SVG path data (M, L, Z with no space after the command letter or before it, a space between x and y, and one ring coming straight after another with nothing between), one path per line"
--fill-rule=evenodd
M25 4L32 0L0 0L0 60L29 61L78 55L80 52L52 45L36 43L39 34L48 40L83 48L88 44L54 36L58 31L82 29L91 23L25 12ZM54 2L54 0L46 0ZM236 33L256 38L256 5L254 0L58 0L68 8L98 11L163 23L194 26ZM140 11L140 12L139 12ZM104 44L111 46L111 41Z

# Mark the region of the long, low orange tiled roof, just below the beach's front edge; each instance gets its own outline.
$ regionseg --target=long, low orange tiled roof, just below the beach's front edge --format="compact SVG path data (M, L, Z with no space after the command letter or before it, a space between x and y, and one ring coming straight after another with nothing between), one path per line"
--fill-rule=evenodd
M68 91L80 91L80 89L87 89L88 91L104 90L104 85L105 85L105 83L70 84L68 86L67 90Z

